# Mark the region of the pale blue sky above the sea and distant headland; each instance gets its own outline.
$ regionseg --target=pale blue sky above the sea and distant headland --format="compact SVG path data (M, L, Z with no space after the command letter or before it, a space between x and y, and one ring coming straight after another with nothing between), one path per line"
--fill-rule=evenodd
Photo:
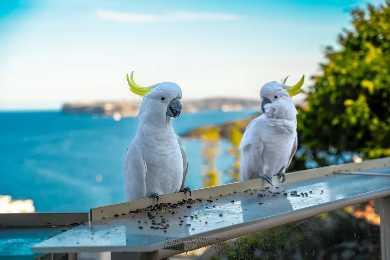
M6 2L4 4L3 2ZM370 1L374 5L381 0ZM0 109L135 100L171 81L184 99L259 98L290 75L305 85L349 27L354 0L35 0L0 5Z

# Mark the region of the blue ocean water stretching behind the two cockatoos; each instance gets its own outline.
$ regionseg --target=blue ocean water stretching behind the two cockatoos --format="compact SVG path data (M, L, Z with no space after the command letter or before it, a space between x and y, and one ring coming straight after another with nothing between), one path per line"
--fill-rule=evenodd
M183 113L177 134L202 125L246 118L257 111ZM60 112L0 113L0 194L32 199L35 212L87 212L125 201L123 156L133 139L137 118L92 118ZM186 186L202 188L202 141L183 139L189 157ZM227 141L219 144L216 170L221 184L234 159ZM99 177L96 177L100 175Z

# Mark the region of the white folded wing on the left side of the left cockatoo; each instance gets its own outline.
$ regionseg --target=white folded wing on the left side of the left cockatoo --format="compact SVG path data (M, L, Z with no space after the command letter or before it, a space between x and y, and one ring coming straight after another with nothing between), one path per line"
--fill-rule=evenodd
M123 159L124 186L127 201L146 198L146 162L142 150L133 141Z

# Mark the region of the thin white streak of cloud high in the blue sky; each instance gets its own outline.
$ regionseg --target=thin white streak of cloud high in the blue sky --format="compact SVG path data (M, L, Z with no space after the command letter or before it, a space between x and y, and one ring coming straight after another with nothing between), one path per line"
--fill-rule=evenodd
M122 21L128 23L145 23L156 21L179 21L179 20L199 20L199 21L237 21L240 16L220 12L169 12L164 15L141 14L131 12L117 12L104 9L95 10L97 17L104 20Z

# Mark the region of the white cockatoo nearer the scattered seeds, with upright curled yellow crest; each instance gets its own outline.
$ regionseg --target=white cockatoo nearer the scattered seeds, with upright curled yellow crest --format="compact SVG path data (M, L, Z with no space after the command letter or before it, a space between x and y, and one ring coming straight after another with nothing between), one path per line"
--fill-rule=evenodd
M134 72L134 71L133 71ZM180 87L162 82L140 87L127 80L131 92L143 98L137 134L124 155L124 188L127 201L158 198L191 189L184 187L188 173L188 157L183 142L175 133L172 118L181 113Z

